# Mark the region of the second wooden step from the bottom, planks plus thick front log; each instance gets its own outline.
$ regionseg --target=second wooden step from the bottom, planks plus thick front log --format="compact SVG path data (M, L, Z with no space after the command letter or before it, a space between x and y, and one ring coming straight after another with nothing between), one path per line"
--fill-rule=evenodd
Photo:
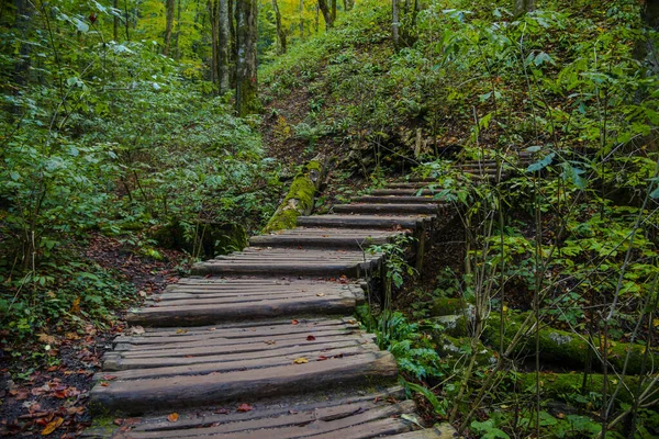
M300 394L368 380L393 379L398 373L390 352L376 350L372 341L353 330L346 334L346 330L339 329L334 337L319 333L315 337L310 328L306 335L298 335L299 339L272 336L271 342L248 339L241 342L234 338L233 344L206 346L189 341L187 348L180 347L181 344L172 337L172 345L168 348L144 349L137 346L127 351L112 352L105 359L110 370L131 364L133 369L150 371L101 376L91 391L91 405L104 410L137 414L216 405L241 398L256 401ZM337 348L337 344L347 347ZM351 354L344 354L344 351ZM212 358L213 361L202 365L196 363L197 369L189 370L190 364L194 364L191 360L196 358ZM164 370L176 360L178 364L175 368L178 369Z

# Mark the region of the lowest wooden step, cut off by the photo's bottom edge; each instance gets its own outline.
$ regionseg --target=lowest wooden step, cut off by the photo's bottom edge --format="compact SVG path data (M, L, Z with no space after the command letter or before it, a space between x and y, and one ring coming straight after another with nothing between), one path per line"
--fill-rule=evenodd
M376 438L435 439L442 428L421 429L403 419L415 405L404 401L402 387L370 391L364 394L313 394L301 398L250 402L248 412L239 412L239 403L217 410L181 413L176 423L167 415L132 419L123 428L98 427L85 432L86 438ZM448 438L450 436L443 436Z

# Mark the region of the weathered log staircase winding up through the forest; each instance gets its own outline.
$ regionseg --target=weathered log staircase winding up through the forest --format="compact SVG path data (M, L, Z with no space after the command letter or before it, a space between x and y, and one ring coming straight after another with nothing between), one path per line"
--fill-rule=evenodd
M439 213L412 184L254 237L132 311L94 378L87 437L447 437L410 420L393 356L351 317L382 262L366 249L423 237Z

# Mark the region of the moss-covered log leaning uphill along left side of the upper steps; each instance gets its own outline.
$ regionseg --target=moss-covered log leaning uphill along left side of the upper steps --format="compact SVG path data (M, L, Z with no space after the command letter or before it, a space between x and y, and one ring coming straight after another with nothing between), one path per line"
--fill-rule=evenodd
M288 194L266 225L264 233L293 228L298 216L309 215L313 210L314 195L326 172L326 160L319 155L300 171Z

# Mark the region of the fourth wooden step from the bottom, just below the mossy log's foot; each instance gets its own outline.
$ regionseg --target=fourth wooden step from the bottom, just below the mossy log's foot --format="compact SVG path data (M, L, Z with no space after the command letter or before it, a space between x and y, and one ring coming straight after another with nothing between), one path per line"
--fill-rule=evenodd
M351 250L261 248L196 263L197 275L317 275L360 278L379 267L381 255Z

